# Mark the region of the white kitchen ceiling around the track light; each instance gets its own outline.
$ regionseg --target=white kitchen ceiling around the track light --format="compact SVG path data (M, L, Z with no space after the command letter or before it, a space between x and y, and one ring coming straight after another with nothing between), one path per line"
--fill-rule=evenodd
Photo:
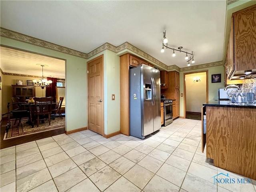
M194 52L196 62L191 66L222 61L226 10L226 0L1 0L0 16L3 28L80 52L88 53L105 42L114 46L129 42L167 66L183 68L184 53L172 57L172 50L160 52L164 30L168 46ZM1 49L4 71L2 57Z

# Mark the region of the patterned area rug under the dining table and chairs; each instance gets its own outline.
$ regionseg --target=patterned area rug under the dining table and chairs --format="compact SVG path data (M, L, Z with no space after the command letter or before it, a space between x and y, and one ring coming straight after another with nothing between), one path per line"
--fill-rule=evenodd
M14 123L14 122L12 122ZM26 123L25 121L22 121L22 127L21 126L11 126L11 128L8 130L8 132L4 135L4 140L24 136L27 134L33 134L37 132L43 132L53 129L59 129L65 127L65 117L63 119L55 118L55 120L51 120L51 125L49 125L48 120L45 120L44 123L39 121L38 127L36 124L34 125L34 128Z

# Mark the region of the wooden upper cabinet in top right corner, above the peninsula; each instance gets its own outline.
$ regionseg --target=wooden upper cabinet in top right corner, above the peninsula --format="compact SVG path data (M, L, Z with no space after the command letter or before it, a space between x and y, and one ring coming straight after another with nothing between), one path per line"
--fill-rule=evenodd
M256 69L256 5L232 14L225 72Z

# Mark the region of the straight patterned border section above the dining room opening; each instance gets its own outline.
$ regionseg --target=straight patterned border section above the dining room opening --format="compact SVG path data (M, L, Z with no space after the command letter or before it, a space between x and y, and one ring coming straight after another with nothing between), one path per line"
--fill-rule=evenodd
M0 35L9 39L13 39L13 40L17 40L17 41L21 41L21 42L25 42L28 44L32 44L32 45L36 45L36 46L40 46L43 48L48 48L54 51L58 51L58 52L62 52L62 53L66 53L69 55L74 55L77 57L82 57L82 58L87 58L87 54L80 52L80 51L76 51L70 48L66 48L64 46L60 46L48 41L44 41L38 38L34 38L28 35L24 35L9 29L5 29L5 28L0 28Z

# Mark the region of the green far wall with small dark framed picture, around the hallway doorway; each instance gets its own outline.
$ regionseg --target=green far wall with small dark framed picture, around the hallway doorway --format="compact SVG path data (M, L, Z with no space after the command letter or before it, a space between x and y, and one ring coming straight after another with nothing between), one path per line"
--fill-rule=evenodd
M180 72L180 94L184 94L184 73L208 70L208 100L218 98L218 89L224 88L224 66L215 66ZM212 74L221 74L220 83L212 83ZM196 97L196 95L195 95ZM180 96L180 116L184 117L184 97Z

